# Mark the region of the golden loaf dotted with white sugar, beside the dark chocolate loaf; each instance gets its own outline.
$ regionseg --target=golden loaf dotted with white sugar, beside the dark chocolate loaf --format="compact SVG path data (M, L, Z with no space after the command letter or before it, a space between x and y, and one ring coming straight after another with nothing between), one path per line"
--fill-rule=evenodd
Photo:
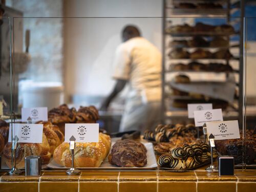
M99 133L98 143L76 143L74 151L75 167L99 167L108 156L111 147L110 136ZM53 153L54 161L66 167L71 167L72 158L69 143L61 143Z

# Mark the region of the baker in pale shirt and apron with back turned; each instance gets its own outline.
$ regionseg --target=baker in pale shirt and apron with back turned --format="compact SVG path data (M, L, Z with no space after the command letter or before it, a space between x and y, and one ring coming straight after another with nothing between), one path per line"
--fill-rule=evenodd
M103 101L107 110L111 101L128 86L124 113L119 131L151 129L160 121L161 109L161 53L135 26L122 30L122 44L115 53L113 78L116 84Z

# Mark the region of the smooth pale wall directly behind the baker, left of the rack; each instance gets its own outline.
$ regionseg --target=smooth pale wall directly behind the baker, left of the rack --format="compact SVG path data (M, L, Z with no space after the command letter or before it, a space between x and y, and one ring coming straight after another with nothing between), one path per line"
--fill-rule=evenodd
M161 17L162 1L64 1L66 17ZM142 35L161 49L161 18L65 19L66 96L107 95L113 88L113 57L120 32L137 25Z

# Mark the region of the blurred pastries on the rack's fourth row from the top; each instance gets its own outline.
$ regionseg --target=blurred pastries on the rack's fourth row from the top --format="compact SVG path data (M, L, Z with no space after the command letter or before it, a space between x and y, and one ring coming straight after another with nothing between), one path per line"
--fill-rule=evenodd
M210 52L204 49L196 49L193 52L188 52L183 48L176 48L169 52L171 59L230 59L233 55L228 49L220 49L216 52Z

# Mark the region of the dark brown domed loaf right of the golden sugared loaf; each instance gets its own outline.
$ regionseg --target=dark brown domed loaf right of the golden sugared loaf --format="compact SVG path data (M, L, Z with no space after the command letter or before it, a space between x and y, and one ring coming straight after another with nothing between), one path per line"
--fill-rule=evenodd
M109 162L119 167L143 167L147 164L146 147L135 140L118 140L112 147Z

